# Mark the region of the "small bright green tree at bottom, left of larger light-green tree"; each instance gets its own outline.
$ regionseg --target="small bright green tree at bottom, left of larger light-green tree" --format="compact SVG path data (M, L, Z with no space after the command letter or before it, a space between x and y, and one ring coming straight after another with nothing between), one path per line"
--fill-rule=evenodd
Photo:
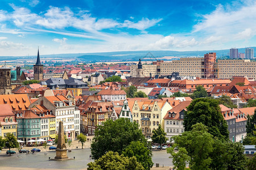
M188 156L188 152L184 147L179 147L179 151L175 152L174 148L177 145L173 145L172 147L167 148L167 153L171 154L169 158L172 158L172 164L174 164L174 168L177 170L183 170L186 168L186 164L190 161L190 156Z

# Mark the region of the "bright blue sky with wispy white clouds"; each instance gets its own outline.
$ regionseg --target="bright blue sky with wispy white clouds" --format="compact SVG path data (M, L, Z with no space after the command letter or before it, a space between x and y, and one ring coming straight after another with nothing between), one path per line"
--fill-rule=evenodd
M0 56L255 46L256 1L0 0Z

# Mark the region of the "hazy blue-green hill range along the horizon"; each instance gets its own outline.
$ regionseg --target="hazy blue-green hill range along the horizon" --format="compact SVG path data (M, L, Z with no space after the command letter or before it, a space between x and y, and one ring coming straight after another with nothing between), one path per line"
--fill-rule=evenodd
M256 50L256 47L251 47ZM151 54L148 54L148 53ZM203 57L206 53L216 53L217 58L227 56L229 49L224 50L200 50L200 51L174 51L174 50L141 50L141 51L123 51L123 52L99 52L99 53L70 53L70 54L47 54L40 58L70 58L76 57L82 61L131 61L138 58L159 58L164 56L174 57ZM238 52L245 53L245 48L238 48ZM146 57L147 56L147 57ZM5 59L14 60L17 58L36 58L36 56L0 56L0 61Z

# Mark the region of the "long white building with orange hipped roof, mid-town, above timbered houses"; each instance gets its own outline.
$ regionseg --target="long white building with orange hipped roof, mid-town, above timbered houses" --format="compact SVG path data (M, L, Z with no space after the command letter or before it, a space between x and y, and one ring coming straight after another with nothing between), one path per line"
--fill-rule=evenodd
M101 95L102 100L119 101L126 100L126 92L123 90L101 90L97 95Z

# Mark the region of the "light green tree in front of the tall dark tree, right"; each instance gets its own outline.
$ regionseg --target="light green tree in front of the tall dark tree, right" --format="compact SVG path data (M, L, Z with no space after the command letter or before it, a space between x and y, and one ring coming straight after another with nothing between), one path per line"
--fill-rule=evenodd
M184 147L191 157L189 167L191 169L209 169L212 159L209 157L213 151L213 135L207 132L207 126L197 123L191 131L185 131L182 135L175 136L174 141L178 148Z

